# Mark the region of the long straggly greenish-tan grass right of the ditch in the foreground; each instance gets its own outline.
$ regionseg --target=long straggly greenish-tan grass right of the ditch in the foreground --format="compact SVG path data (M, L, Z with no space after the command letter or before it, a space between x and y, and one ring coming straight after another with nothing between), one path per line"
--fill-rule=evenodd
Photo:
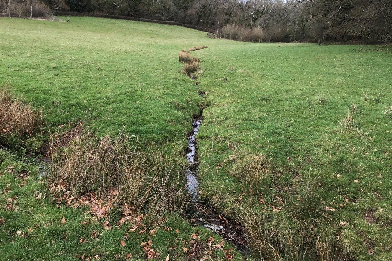
M214 196L212 204L238 223L256 260L303 260L305 256L321 261L344 260L347 252L335 236L336 227L320 211L318 178L304 175L299 184L295 194L282 193L273 199L269 199L269 191L261 192L260 203L232 196L228 188ZM300 205L295 204L298 199Z

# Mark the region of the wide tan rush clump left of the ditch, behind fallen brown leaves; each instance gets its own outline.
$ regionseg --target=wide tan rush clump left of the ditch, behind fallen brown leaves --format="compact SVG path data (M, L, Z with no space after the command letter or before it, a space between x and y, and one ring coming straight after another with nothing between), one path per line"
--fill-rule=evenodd
M189 202L181 151L129 136L97 138L91 133L72 140L66 148L58 144L51 135L48 183L51 187L65 184L75 198L92 191L105 198L111 188L116 188L118 202L142 210L151 218L181 212Z

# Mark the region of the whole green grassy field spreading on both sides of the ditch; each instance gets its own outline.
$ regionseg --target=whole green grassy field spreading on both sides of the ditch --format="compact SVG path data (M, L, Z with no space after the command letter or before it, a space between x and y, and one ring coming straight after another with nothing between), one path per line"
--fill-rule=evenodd
M0 28L1 80L52 128L125 127L185 148L198 104L211 102L196 137L200 199L249 228L256 259L392 260L392 48L244 43L80 17L1 18ZM196 88L178 52L200 45Z

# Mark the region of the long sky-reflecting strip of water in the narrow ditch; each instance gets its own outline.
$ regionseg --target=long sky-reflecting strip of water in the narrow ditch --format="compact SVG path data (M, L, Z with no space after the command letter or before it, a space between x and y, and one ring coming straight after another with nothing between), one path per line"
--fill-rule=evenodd
M196 134L199 132L201 125L201 118L195 118L192 120L192 132L188 138L188 147L187 147L187 161L189 163L189 169L185 170L185 179L187 180L187 184L185 188L188 193L192 196L192 202L197 201L198 194L198 181L192 168L196 163Z

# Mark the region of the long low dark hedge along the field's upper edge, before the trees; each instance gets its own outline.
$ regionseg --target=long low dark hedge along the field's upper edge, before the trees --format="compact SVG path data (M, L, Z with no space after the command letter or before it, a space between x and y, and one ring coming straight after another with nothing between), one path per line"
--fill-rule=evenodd
M91 17L100 17L100 18L111 18L111 19L122 19L122 20L132 20L132 21L140 21L140 22L150 22L156 24L168 24L168 25L179 25L183 27L188 27L191 29L196 29L199 31L210 32L211 30L199 27L196 25L189 25L189 24L181 24L174 21L162 21L162 20L152 20L152 19L145 19L145 18L138 18L138 17L131 17L131 16L121 16L121 15L112 15L112 14L100 14L100 13L78 13L78 12L69 12L69 11L58 11L55 15L69 15L69 16L91 16Z

